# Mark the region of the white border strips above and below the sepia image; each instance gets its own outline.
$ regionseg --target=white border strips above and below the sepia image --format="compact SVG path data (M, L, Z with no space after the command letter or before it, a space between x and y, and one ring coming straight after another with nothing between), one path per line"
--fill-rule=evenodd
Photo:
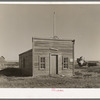
M0 4L100 4L100 2L0 2ZM53 91L52 88L1 88L0 99L88 99L88 98L100 98L99 88L57 88L61 91Z

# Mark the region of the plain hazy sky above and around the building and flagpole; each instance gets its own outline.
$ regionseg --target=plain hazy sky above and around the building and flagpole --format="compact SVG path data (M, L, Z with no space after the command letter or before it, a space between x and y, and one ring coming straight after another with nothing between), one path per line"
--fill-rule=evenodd
M0 56L18 60L32 48L32 37L52 37L54 11L55 35L76 40L75 58L100 60L100 5L0 4Z

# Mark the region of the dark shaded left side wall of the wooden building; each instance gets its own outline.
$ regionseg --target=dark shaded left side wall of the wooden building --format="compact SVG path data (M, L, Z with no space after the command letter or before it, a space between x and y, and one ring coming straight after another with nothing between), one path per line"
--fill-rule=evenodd
M19 68L22 69L22 75L32 76L32 50L19 55Z

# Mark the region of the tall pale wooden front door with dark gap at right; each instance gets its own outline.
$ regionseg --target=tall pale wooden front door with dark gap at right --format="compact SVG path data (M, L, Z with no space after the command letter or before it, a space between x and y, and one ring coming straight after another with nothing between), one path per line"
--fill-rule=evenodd
M51 55L50 56L50 74L58 74L58 56Z

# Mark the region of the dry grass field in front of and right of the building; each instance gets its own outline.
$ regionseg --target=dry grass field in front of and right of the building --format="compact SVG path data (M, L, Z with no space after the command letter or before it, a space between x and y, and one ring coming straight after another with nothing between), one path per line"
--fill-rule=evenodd
M19 77L0 75L0 88L100 88L100 66L75 69L75 76Z

